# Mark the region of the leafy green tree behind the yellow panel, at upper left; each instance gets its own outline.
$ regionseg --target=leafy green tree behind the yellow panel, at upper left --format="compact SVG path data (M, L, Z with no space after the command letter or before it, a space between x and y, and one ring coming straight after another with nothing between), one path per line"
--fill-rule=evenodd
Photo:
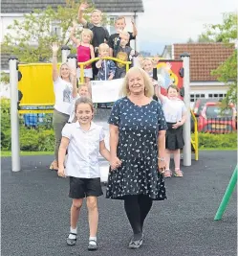
M79 3L68 0L64 7L58 6L56 10L49 6L46 10L25 14L23 21L14 20L4 37L2 51L17 56L21 62L49 60L54 41L60 45L69 43L69 29L76 20L78 6Z

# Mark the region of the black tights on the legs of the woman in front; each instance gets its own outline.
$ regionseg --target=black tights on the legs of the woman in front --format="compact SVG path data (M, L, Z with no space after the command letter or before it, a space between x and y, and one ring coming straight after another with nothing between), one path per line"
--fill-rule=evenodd
M152 199L145 195L124 197L124 208L134 234L141 234L143 222L152 206Z

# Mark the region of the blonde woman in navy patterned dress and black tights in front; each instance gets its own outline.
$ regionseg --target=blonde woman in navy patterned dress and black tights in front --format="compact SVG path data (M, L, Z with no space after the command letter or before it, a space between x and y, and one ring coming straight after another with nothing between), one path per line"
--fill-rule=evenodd
M106 198L123 199L133 229L130 248L142 244L143 222L153 200L166 198L166 122L162 105L154 100L151 79L139 67L131 68L122 95L113 106L110 124L111 169ZM121 161L121 162L120 162Z

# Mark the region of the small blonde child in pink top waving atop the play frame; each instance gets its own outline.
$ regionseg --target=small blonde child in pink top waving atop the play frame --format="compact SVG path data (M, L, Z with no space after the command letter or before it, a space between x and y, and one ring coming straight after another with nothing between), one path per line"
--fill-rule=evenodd
M93 32L89 29L83 29L81 34L81 41L75 37L76 23L73 23L73 29L71 31L71 39L76 44L77 62L85 62L90 58L95 58L94 47L91 43L93 38ZM80 69L77 69L80 72ZM80 73L79 73L80 74ZM77 74L77 77L79 77ZM88 83L93 78L92 66L84 66L84 81Z

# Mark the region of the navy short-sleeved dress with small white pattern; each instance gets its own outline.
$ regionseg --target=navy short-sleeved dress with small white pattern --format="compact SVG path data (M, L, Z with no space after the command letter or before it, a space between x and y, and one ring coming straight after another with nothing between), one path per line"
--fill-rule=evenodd
M112 108L109 124L119 127L118 157L121 166L109 173L106 198L147 195L166 198L164 181L158 172L158 132L166 129L162 105L134 105L127 97Z

